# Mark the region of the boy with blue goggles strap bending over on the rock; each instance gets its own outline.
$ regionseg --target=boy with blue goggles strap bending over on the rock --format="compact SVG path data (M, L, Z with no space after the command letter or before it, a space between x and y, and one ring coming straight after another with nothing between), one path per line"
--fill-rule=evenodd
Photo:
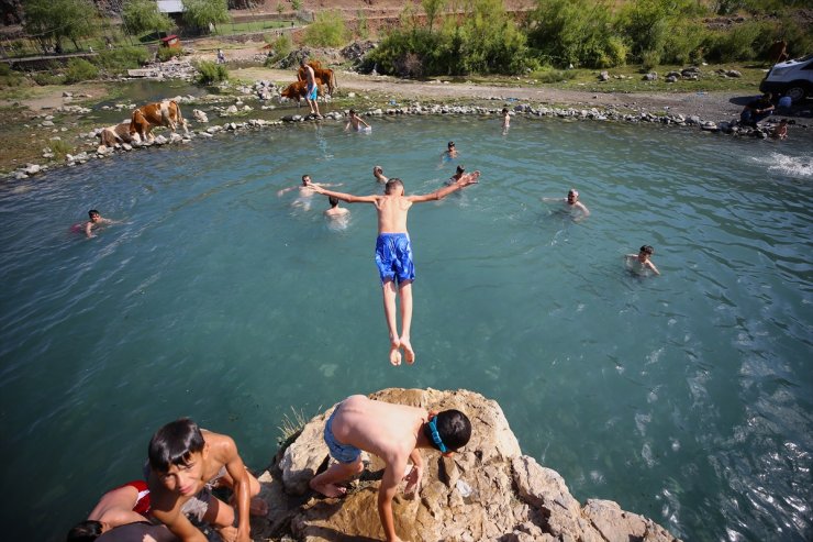
M346 493L338 484L364 471L361 451L385 462L378 489L378 516L388 542L399 542L392 517L392 498L404 479L404 494L421 489L420 449L434 449L448 457L471 438L471 422L459 410L434 412L354 395L338 403L325 423L324 440L338 462L311 480L311 488L327 497ZM408 462L412 468L406 472ZM406 472L406 474L404 474Z

